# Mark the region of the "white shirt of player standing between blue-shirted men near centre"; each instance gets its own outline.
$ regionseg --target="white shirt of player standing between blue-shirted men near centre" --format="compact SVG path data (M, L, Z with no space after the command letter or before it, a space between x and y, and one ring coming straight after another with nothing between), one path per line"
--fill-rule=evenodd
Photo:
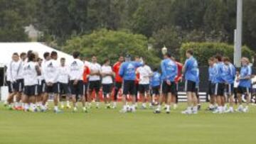
M153 73L148 65L144 65L137 69L139 72L139 84L149 84L149 77Z

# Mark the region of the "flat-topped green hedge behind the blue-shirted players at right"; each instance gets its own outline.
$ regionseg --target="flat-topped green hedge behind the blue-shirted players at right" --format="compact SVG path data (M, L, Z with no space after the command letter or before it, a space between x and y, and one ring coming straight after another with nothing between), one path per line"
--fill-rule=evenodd
M180 49L181 62L186 60L186 50L193 49L194 56L198 60L198 65L208 65L208 58L213 55L220 54L230 57L233 61L234 46L226 43L183 43ZM255 55L255 52L247 46L242 46L242 56L248 57L250 60Z

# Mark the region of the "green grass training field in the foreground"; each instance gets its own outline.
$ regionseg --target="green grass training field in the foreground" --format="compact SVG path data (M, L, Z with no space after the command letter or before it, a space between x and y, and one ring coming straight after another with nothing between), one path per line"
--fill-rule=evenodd
M185 104L180 104L170 114L154 114L149 109L119 113L119 109L103 107L92 108L89 113L24 113L6 110L1 104L0 143L256 143L254 106L250 106L249 113L213 114L201 110L191 116L180 113L184 108Z

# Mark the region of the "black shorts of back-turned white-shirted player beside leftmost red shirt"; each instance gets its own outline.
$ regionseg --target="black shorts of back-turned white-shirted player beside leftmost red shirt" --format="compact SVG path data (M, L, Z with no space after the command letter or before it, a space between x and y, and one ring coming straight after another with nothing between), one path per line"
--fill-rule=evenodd
M74 80L70 80L70 90L72 95L85 95L85 84L82 80L78 81L78 84L74 84Z

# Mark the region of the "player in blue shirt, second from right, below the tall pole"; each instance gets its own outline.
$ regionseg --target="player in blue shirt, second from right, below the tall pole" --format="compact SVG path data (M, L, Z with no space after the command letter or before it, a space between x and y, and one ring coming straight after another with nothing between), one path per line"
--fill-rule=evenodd
M234 93L234 82L235 82L235 67L230 62L228 57L223 57L224 62L224 72L223 72L223 79L225 80L225 94L228 96L230 101L230 108L225 111L225 113L233 113L233 93Z

